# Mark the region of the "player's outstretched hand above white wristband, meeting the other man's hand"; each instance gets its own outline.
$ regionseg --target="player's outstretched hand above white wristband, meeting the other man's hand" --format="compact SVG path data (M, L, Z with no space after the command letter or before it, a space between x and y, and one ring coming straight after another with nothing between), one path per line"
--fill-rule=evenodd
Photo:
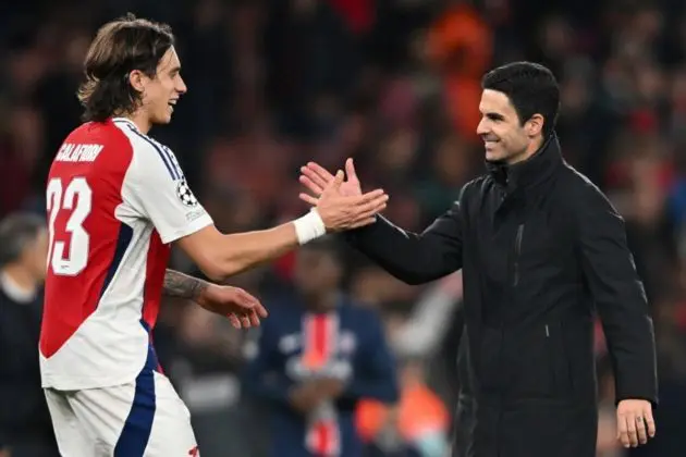
M376 214L385 208L389 199L382 189L344 195L343 177L343 171L339 171L322 188L319 198L309 195L304 198L306 202L317 208L328 232L357 228L372 223Z

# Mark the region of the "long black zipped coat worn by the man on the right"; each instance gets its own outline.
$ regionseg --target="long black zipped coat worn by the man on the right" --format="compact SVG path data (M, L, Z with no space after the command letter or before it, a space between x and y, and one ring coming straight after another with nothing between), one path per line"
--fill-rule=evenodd
M455 455L596 455L596 311L616 399L657 404L652 320L624 222L555 136L525 162L489 165L421 234L378 218L346 236L406 283L463 271Z

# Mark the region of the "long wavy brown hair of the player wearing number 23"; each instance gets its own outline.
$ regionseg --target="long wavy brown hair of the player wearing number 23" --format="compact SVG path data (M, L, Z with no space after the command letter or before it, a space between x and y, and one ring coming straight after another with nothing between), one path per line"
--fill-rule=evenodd
M132 13L105 24L90 44L84 61L85 81L77 96L84 122L103 122L134 112L140 92L128 81L133 70L155 77L164 53L174 45L167 24L137 18Z

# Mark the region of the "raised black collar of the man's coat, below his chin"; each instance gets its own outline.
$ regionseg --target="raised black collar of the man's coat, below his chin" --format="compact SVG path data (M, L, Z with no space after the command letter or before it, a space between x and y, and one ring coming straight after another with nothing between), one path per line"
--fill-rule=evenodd
M527 160L513 165L487 161L486 166L493 181L512 194L547 181L562 163L560 141L553 133Z

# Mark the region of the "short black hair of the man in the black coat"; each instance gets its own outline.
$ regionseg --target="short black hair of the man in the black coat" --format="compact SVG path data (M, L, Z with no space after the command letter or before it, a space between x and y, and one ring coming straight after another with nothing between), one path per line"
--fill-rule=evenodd
M544 118L544 136L555 128L560 111L560 86L546 66L532 62L509 63L483 75L481 87L505 94L522 125L538 113Z

